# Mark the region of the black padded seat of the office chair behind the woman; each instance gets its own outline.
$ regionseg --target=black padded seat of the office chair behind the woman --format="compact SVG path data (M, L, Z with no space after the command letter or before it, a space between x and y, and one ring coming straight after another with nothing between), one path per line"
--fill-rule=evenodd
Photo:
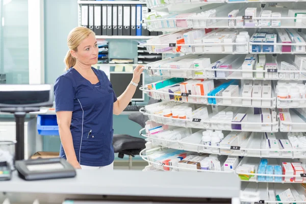
M119 158L123 158L123 155L133 157L138 155L145 148L145 143L144 139L131 135L114 135L113 137L114 152L119 153Z

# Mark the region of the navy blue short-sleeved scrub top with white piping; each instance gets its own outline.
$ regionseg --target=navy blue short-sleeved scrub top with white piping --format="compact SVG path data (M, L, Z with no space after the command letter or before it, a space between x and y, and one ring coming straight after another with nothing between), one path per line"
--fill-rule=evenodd
M80 165L106 166L114 161L113 106L117 97L105 72L92 70L99 79L97 84L72 67L56 80L55 109L72 111L70 131ZM66 159L62 144L60 157Z

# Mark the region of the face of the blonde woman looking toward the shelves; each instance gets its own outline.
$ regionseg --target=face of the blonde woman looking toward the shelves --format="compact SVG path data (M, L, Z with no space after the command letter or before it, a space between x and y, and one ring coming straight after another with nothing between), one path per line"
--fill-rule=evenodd
M79 44L78 51L74 53L82 64L93 65L98 62L98 52L97 40L93 34L90 34Z

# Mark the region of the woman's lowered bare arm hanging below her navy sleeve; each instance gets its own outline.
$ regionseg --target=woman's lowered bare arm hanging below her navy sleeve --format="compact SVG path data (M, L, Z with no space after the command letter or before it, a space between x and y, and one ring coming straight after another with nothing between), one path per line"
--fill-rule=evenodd
M80 169L81 166L78 162L77 156L73 147L73 140L70 131L70 123L72 112L71 111L60 111L56 113L57 122L59 125L59 133L61 142L65 151L67 161L74 167Z

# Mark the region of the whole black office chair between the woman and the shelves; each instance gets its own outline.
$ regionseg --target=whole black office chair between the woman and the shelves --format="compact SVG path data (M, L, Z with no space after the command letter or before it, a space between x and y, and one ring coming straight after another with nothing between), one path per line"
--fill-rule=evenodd
M150 99L148 105L159 102L156 99ZM129 115L129 119L140 124L143 128L148 117L140 112L132 113ZM129 156L129 169L132 169L132 160L135 155L139 155L140 151L145 148L146 141L143 138L133 137L131 135L114 135L113 147L114 152L118 153L119 158L123 158L124 155Z

